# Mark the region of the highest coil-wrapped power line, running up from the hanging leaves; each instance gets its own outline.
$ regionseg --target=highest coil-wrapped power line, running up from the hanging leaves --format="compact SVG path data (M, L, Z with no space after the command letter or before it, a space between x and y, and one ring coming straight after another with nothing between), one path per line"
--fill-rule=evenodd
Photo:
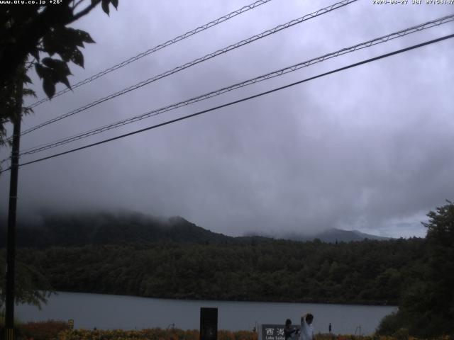
M94 80L96 80L98 78L101 78L104 75L115 71L116 69L121 69L121 67L124 67L124 66L126 66L128 64L131 64L131 62L135 62L135 61L139 60L140 58L143 58L143 57L145 57L147 55L150 55L150 54L152 54L154 52L162 50L163 48L165 48L167 46L170 46L172 44L175 44L176 42L179 42L181 40L189 38L192 35L196 35L197 33L200 33L200 32L202 32L204 30L207 30L207 29L209 29L209 28L211 28L213 26L216 26L219 23L223 23L224 21L228 21L229 19L234 18L235 16L238 16L238 15L240 15L242 13L245 13L246 11L249 11L250 9L257 8L258 6L260 6L262 4L266 4L267 2L270 2L270 1L271 0L255 1L253 4L249 4L249 5L243 6L240 9L237 9L236 11L228 13L225 16L221 16L221 18L217 18L216 20L210 21L209 23L206 23L205 25L202 25L202 26L199 26L197 28L194 28L194 30L189 30L187 33L184 33L182 35L178 35L177 37L175 37L173 39L167 40L166 42L163 42L160 45L157 45L157 46L155 46L153 48L150 48L150 50L146 50L145 52L139 53L138 55L135 55L134 57L131 57L128 60L124 60L123 62L120 62L119 64L116 64L116 65L114 65L112 67L109 67L109 69L104 69L104 71L101 71L101 72L99 72L97 74L94 74L92 77L89 77L87 79L79 81L77 84L72 85L71 89L65 88L65 89L63 89L61 91L58 91L53 96L53 98L61 96L62 94L66 94L67 92L69 92L69 91L71 91L73 89L76 89L77 87L82 86L84 84L90 83L90 82L92 82L92 81L94 81ZM38 106L38 105L40 105L42 103L45 103L46 101L50 101L50 99L49 98L42 98L39 101L36 101L35 103L31 104L28 107L29 108L35 108L36 106Z

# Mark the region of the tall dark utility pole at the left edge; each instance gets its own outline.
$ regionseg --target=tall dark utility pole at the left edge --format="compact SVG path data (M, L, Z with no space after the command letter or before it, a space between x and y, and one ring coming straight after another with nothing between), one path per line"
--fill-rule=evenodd
M19 149L21 141L22 89L19 77L16 85L16 117L13 120L13 142L11 146L11 171L9 181L8 237L6 239L6 303L5 340L16 339L14 334L14 297L16 273L16 207L19 169Z

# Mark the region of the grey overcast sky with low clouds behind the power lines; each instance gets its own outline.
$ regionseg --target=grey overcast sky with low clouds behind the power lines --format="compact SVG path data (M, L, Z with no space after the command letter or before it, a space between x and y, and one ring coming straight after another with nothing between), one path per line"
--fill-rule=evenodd
M272 0L35 108L22 130L335 1ZM405 1L406 2L406 1ZM360 0L23 136L21 149L76 135L454 12ZM425 2L425 1L423 1ZM252 1L121 0L77 22L75 84ZM454 23L336 57L22 162L131 132L454 33ZM424 236L454 199L454 40L445 40L205 115L21 167L19 219L42 210L179 215L214 232L358 229ZM34 78L36 79L36 78ZM35 80L38 98L40 82ZM62 89L63 87L60 87ZM33 101L31 101L33 102ZM2 158L8 149L0 152ZM6 212L9 173L1 174Z

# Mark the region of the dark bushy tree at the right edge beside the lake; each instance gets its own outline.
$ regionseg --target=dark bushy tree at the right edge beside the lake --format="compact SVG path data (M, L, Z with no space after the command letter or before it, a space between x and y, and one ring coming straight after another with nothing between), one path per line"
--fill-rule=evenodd
M404 291L399 311L383 320L382 334L405 328L414 336L454 336L454 204L427 216L427 260Z

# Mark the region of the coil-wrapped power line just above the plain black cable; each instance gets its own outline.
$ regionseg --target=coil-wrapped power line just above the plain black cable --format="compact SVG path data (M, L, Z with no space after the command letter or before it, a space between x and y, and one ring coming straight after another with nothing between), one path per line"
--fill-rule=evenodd
M338 57L339 55L345 55L346 53L354 52L355 50L360 50L360 49L365 48L365 47L378 45L378 44L380 44L382 42L387 42L387 41L393 40L395 38L401 38L404 35L409 35L411 33L419 32L420 30L425 30L427 28L439 26L439 25L441 25L443 23L448 23L450 21L454 21L454 14L452 14L450 16L444 16L442 18L438 18L438 19L435 19L433 21L428 21L426 23L421 23L420 25L413 26L413 27L410 27L410 28L406 28L404 30L399 30L397 32L390 33L388 35L383 35L383 36L381 36L379 38L375 38L375 39L372 39L372 40L367 40L366 42L361 42L359 44L356 44L356 45L353 45L353 46L350 46L350 47L345 47L345 48L343 48L341 50L337 50L336 52L330 52L330 53L328 53L326 55L322 55L321 57L316 57L316 58L313 58L311 60L307 60L305 62L300 62L299 64L294 64L294 65L289 66L289 67L284 67L282 69L278 69L277 71L273 71L273 72L270 72L270 73L267 73L267 74L263 74L262 76L255 77L253 79L248 79L246 81L242 81L240 83L233 84L231 86L226 86L226 87L223 87L222 89L218 89L216 91L211 91L211 92L209 92L207 94L202 94L200 96L196 96L194 98L190 98L190 99L187 99L185 101L180 101L178 103L173 103L173 104L171 104L169 106L165 106L163 108L158 108L158 109L155 109L153 111L148 111L147 113L143 113L141 115L137 115L137 116L132 117L132 118L128 118L128 119L125 119L125 120L120 120L120 121L118 121L116 123L111 123L109 125L104 125L101 128L96 128L96 129L93 129L93 130L89 130L87 132L82 132L79 135L74 135L72 137L66 137L64 139L57 140L55 142L50 142L48 144L40 145L40 146L37 146L37 147L33 147L31 149L26 149L25 151L21 152L21 155L24 155L24 154L35 154L36 152L41 152L41 151L44 151L46 149L52 149L53 147L58 147L60 145L65 145L67 143L74 142L76 140L81 140L83 138L90 137L92 135L97 135L97 134L99 134L101 132L106 132L107 130L112 130L114 128L118 128L118 127L123 126L123 125L127 125L127 124L130 124L130 123L137 122L138 120L143 120L145 118L150 118L150 117L153 117L155 115L159 115L161 113L172 111L172 110L175 110L177 108L181 108L182 106L187 106L187 105L192 104L192 103L196 103L196 102L199 102L199 101L204 101L204 100L206 100L208 98L212 98L214 96L219 96L219 95L224 94L224 93L226 93L228 91L233 91L235 89L240 89L240 88L242 88L244 86L249 86L251 84L258 83L259 81L264 81L264 80L267 80L267 79L272 79L272 78L275 78L275 77L279 77L279 76L282 76L283 74L287 74L289 72L297 71L298 69L301 69L303 67L309 67L312 64L316 64L318 62L323 62L324 60L331 59L333 57Z

